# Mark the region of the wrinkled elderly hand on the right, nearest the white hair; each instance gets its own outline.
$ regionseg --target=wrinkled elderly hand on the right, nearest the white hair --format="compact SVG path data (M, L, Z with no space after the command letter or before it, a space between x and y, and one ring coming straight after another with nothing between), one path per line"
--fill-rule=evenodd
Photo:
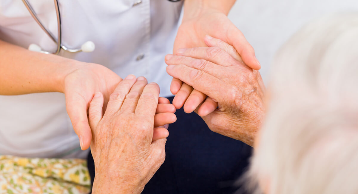
M264 116L260 73L246 66L231 45L209 36L205 43L211 47L167 55L167 72L210 97L197 113L212 131L252 146ZM208 111L216 103L218 108Z

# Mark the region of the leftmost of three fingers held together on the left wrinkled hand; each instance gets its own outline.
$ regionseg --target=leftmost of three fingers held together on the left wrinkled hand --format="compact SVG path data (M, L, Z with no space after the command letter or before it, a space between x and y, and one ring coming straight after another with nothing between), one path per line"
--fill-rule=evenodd
M117 87L110 95L105 116L113 115L114 113L118 112L118 110L121 108L123 104L126 95L129 93L130 89L132 88L135 82L136 82L135 76L128 75L124 80L118 83Z

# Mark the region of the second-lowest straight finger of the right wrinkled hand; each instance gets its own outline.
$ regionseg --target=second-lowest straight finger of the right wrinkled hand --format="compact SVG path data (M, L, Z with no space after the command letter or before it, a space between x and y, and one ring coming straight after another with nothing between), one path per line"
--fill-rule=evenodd
M214 64L205 59L197 59L187 56L171 55L171 54L166 55L165 59L166 59L165 62L168 65L183 64L188 67L192 67L207 72L215 77L220 77L219 73L223 71L222 66Z

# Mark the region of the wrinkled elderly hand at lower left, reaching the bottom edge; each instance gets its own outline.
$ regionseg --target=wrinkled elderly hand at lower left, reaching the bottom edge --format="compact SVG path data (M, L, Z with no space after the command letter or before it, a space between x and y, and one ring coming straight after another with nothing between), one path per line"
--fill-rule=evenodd
M103 117L103 96L93 97L89 107L96 172L93 193L140 193L164 162L166 139L152 142L155 131L166 131L154 130L158 101L159 86L135 78L118 84ZM170 112L167 116L175 117Z

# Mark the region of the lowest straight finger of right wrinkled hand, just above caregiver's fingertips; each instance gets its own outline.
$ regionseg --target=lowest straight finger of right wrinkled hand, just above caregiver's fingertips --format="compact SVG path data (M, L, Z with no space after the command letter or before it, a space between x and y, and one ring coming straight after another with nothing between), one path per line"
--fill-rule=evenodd
M206 94L217 102L221 100L223 94L232 95L231 93L227 93L227 90L230 88L228 88L221 79L198 69L185 65L170 65L166 67L166 72L170 76L193 86L194 89Z

